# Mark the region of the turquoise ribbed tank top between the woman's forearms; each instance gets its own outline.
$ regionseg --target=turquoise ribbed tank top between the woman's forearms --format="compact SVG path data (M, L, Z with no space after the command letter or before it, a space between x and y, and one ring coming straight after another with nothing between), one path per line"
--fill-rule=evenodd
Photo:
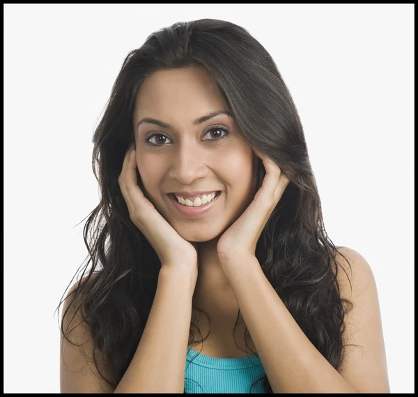
M258 355L219 358L187 348L186 393L249 393L251 384L265 373ZM264 393L263 381L251 393Z

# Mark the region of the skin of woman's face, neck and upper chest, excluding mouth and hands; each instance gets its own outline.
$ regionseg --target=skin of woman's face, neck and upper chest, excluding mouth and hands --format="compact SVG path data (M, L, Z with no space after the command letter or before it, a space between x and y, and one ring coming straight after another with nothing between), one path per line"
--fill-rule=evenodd
M224 340L229 346L229 351L217 351L219 357L222 353L226 357L244 356L245 352L236 348L233 339L238 304L222 270L217 243L254 199L263 171L261 159L240 138L231 116L220 114L194 124L203 115L227 110L212 76L203 68L186 67L160 70L148 76L137 93L132 120L137 167L145 197L179 236L197 243L199 274L193 301L210 316L206 346L212 346L212 353L215 353L216 339ZM144 118L160 120L171 128L148 122L137 127ZM213 128L218 133L211 132ZM226 138L219 139L220 136ZM146 143L147 139L154 145ZM167 195L173 191L222 191L222 194L212 209L197 220L183 216L173 206ZM209 326L206 317L199 311L194 311L194 315L206 335ZM244 329L245 324L240 322L235 334L243 349ZM249 343L251 346L251 339Z

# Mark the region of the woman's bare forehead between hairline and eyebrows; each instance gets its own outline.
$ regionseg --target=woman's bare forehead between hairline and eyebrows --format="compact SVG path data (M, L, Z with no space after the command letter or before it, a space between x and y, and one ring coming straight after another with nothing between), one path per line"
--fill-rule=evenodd
M222 94L203 67L159 70L148 76L137 92L137 117L200 115L226 108Z

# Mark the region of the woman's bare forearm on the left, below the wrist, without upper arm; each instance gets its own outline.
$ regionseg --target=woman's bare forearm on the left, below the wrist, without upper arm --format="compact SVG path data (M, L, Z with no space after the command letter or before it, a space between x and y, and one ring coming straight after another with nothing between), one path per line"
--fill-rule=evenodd
M196 277L162 266L137 351L114 393L183 393Z

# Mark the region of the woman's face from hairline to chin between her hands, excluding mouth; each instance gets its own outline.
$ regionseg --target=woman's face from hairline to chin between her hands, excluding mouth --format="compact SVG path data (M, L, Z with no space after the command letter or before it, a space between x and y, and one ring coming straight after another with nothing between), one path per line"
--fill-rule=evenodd
M221 92L210 74L198 67L151 74L135 101L140 186L187 241L210 241L220 236L245 211L258 188L259 159L238 137L233 118L222 113L194 123L219 111L227 111ZM139 124L144 118L160 120L169 127ZM179 191L221 194L202 216L186 216L168 195Z

